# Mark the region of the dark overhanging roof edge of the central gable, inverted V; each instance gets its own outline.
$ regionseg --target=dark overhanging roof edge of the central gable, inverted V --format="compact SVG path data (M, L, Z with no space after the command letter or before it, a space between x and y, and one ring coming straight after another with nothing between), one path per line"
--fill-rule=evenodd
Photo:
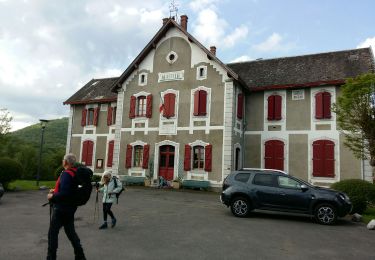
M184 30L173 18L169 18L168 21L160 28L152 40L146 45L146 47L141 51L141 53L134 59L134 61L129 65L129 67L122 73L118 80L113 85L112 91L116 92L117 89L121 88L121 84L130 76L130 74L138 68L138 65L143 61L143 59L149 54L149 52L156 47L156 44L165 36L167 31L171 27L176 27L183 34L185 34L190 42L195 43L203 52L207 54L207 58L214 60L219 63L224 70L226 70L229 77L242 83L244 87L246 85L239 79L237 73L235 73L230 67L221 62L214 54L211 53L207 48L205 48L198 40L196 40L191 34Z

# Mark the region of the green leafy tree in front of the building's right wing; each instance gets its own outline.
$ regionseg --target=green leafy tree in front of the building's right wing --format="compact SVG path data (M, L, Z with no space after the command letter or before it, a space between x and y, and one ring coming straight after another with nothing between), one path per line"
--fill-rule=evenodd
M359 159L367 159L375 176L375 74L347 79L333 111L345 135L344 144Z

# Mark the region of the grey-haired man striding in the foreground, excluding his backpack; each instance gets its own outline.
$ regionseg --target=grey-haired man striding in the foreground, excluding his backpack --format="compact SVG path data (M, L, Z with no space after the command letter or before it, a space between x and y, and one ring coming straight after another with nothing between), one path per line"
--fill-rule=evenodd
M74 228L74 214L77 206L74 204L74 183L72 172L76 172L74 154L67 154L63 159L64 171L56 181L55 189L51 189L47 199L52 203L53 213L48 231L48 253L47 260L56 259L58 247L58 235L61 227L64 227L65 234L69 238L76 260L85 260L85 255L80 239Z

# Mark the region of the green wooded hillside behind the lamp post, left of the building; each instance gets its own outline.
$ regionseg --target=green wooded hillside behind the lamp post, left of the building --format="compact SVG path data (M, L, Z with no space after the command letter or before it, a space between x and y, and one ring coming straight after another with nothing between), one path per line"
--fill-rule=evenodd
M64 150L66 145L66 137L68 131L68 118L51 120L47 123L44 130L44 146L43 150ZM20 130L10 133L12 137L16 137L24 142L30 143L35 148L40 146L40 124L31 125Z

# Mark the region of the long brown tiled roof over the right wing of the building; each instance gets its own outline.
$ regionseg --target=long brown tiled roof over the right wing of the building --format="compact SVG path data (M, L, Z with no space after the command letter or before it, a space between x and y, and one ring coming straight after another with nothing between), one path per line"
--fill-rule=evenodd
M343 84L375 72L371 48L227 64L252 91Z

